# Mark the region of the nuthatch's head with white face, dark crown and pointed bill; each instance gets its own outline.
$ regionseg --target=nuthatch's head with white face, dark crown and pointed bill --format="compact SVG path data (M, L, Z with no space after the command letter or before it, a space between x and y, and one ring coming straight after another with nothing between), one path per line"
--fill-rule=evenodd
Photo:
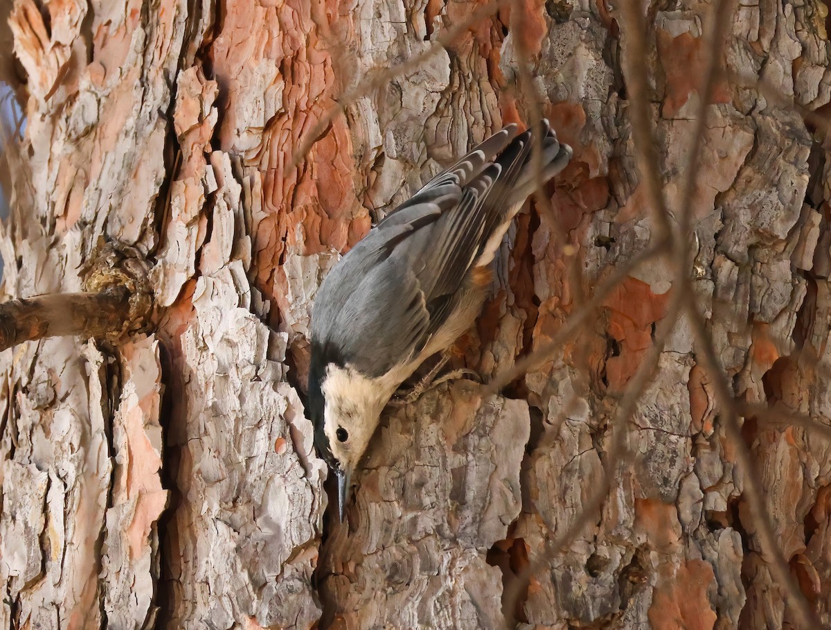
M379 400L378 387L351 367L316 365L315 359L312 350L308 400L315 446L337 475L337 514L343 520L352 473L375 433L386 399Z

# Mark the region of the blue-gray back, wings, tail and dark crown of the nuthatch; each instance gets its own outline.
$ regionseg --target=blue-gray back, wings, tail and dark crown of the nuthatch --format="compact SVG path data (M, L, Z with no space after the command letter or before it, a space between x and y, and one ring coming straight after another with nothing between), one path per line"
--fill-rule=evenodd
M568 163L571 150L547 121L541 131L539 174L531 132L514 137L515 126L506 127L381 220L327 275L312 312L309 405L330 465L322 426L327 366L380 378L430 350L470 301L477 261L494 234L501 238L510 209Z

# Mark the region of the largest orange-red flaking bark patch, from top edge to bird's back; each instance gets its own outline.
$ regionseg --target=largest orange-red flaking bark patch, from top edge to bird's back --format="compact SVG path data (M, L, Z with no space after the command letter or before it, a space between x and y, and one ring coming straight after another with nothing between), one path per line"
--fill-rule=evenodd
M336 116L292 165L307 136L335 105L334 66L343 57L342 40L353 31L350 19L337 7L323 10L302 0L268 7L235 0L211 47L214 76L224 95L219 144L243 153L245 165L262 174L254 268L258 288L278 306L285 294L280 265L287 246L302 254L344 251L370 229L369 214L355 194L352 138L344 116ZM253 72L254 67L263 70ZM261 86L267 76L271 84ZM278 99L259 124L246 108L252 91L261 92L258 98L266 104Z

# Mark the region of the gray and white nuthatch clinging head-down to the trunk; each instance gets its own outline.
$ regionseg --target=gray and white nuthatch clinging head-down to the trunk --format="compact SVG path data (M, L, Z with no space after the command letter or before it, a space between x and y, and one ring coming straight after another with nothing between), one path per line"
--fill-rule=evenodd
M427 358L445 352L443 364L475 322L514 215L571 156L546 120L536 131L504 126L381 219L323 279L307 407L317 453L337 475L341 522L381 411Z

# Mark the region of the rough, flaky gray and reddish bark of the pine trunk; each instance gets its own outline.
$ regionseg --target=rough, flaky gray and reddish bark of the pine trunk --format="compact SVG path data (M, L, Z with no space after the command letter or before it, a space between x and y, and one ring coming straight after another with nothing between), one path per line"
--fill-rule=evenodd
M148 258L155 314L120 344L0 354L2 628L787 627L748 475L831 623L827 437L745 415L743 470L684 317L616 422L678 290L666 259L633 268L498 395L455 381L387 412L346 522L326 510L302 405L309 317L372 221L505 123L539 112L573 146L550 208L529 204L505 239L459 344L456 367L485 379L656 239L619 7L489 7L15 0L29 172L0 242L5 294L81 291L103 239ZM671 210L686 199L712 8L639 5ZM831 97L827 13L760 0L730 14L689 235L733 394L826 426L831 160L805 115Z

